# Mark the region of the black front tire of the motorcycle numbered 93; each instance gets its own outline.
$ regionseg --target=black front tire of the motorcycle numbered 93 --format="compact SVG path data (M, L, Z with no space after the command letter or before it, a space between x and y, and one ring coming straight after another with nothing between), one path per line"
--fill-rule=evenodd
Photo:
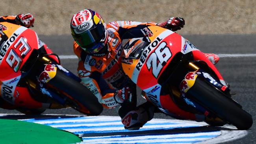
M96 96L87 89L87 87L70 78L61 70L57 69L56 76L51 79L48 84L59 90L63 95L68 95L67 104L81 113L96 116L103 110ZM88 110L89 113L85 111L85 109Z

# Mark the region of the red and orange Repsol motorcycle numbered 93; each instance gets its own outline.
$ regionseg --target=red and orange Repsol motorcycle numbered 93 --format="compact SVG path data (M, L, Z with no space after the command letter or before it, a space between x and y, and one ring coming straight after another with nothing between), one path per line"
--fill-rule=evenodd
M87 115L102 112L94 94L60 65L35 31L1 22L0 35L0 107L24 114L65 107Z

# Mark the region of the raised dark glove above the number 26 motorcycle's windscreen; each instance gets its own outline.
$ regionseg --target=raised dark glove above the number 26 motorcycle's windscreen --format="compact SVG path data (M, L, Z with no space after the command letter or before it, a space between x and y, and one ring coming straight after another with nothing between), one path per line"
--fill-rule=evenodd
M181 17L171 17L169 20L165 22L161 22L157 24L162 28L167 28L171 31L180 30L185 25L185 20Z

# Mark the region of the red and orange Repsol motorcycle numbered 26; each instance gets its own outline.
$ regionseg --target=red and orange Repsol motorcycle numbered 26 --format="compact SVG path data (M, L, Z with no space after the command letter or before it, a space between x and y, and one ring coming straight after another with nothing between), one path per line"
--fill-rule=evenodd
M201 118L212 126L252 126L252 116L232 99L217 68L182 36L148 26L127 32L122 46L124 72L163 113L177 119Z

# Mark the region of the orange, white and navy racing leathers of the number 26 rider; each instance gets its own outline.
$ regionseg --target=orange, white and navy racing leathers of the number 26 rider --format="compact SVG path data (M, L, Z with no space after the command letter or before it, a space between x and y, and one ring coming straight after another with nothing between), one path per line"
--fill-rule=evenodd
M107 24L109 50L105 54L87 54L74 41L74 53L79 58L77 70L78 76L82 79L81 83L93 92L105 108L114 108L118 105L113 95L128 81L121 68L121 58L124 54L121 47L122 35L128 30L152 25L156 23L110 22Z

